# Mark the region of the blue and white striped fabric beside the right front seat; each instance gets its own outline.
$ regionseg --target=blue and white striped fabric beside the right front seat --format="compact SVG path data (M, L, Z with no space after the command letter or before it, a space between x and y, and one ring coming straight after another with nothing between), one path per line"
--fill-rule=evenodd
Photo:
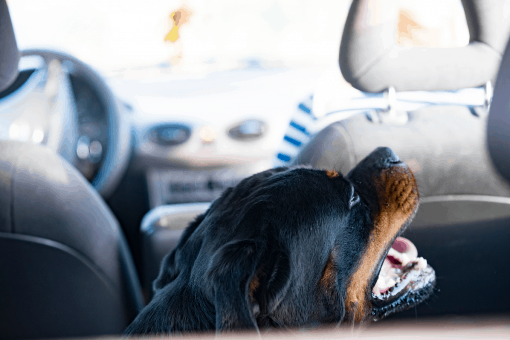
M297 104L282 144L276 149L273 167L288 166L310 139L309 127L317 119L312 111L313 96Z

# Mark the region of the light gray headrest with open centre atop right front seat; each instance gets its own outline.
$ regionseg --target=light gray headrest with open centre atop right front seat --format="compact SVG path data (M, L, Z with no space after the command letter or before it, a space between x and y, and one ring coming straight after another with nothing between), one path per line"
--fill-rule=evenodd
M374 1L380 6L370 6ZM456 90L494 80L510 32L505 0L462 3L470 34L467 46L403 48L395 41L397 2L353 0L340 45L345 80L365 92L390 86L397 91ZM372 10L382 6L385 11L394 7L395 16L385 18Z

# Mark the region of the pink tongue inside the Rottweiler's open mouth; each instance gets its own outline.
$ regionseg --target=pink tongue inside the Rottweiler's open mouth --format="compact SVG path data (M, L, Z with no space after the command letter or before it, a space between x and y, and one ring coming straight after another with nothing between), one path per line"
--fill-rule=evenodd
M391 287L400 282L401 269L413 264L417 264L417 266L414 266L414 270L421 270L427 267L427 260L418 257L418 250L413 242L402 237L397 238L386 255L384 263L382 263L379 277L372 292L375 295L385 294Z

